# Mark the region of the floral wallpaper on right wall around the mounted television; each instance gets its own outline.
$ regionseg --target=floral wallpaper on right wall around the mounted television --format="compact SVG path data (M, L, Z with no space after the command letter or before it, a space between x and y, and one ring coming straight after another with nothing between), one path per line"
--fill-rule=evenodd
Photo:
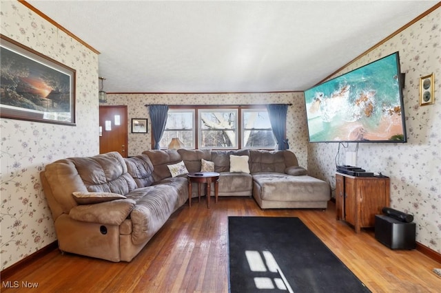
M407 143L358 146L356 165L391 178L391 208L414 215L416 240L441 253L441 8L413 23L371 52L361 56L336 76L398 51L401 71L406 74L404 111ZM435 104L419 105L420 77L435 76ZM355 151L356 144L340 148ZM308 146L311 175L335 186L338 144Z

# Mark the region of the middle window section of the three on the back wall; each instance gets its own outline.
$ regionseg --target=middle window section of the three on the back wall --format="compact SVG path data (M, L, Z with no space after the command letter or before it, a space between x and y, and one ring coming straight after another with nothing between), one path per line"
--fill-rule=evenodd
M200 109L199 149L237 149L238 109Z

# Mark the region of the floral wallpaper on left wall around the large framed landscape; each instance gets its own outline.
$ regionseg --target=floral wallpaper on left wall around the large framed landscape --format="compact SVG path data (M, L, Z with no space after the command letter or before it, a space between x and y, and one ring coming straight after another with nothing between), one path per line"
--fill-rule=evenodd
M76 69L76 127L0 120L3 270L57 240L39 173L54 160L99 153L99 89L96 53L18 1L1 1L0 18L1 34Z

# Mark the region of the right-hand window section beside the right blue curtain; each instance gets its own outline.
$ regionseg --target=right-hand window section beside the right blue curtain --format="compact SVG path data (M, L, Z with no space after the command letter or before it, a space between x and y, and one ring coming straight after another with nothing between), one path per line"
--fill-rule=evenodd
M241 138L243 149L274 149L276 147L267 109L242 110Z

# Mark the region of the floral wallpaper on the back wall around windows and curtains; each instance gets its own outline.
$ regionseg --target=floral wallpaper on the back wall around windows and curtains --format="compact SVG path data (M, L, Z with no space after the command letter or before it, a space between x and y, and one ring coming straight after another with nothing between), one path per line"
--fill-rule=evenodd
M152 148L152 131L145 105L249 105L292 104L287 113L287 138L300 166L307 166L307 127L305 100L302 92L245 94L107 94L102 105L127 105L129 156ZM132 118L147 118L148 133L130 133Z

